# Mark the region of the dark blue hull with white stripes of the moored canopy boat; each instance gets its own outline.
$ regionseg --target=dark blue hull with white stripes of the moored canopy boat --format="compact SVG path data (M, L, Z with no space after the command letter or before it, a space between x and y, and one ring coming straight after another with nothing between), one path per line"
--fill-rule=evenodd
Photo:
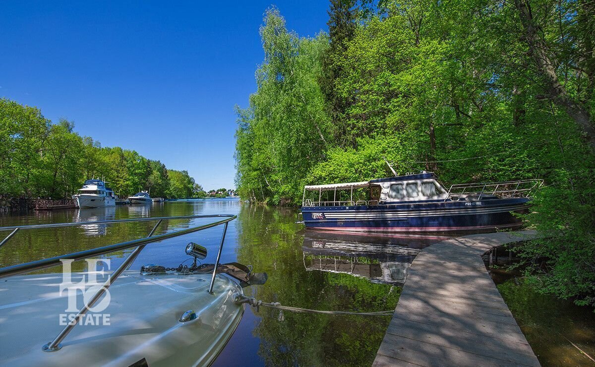
M305 206L306 228L344 231L466 232L521 227L526 198L481 201L428 200L372 206Z

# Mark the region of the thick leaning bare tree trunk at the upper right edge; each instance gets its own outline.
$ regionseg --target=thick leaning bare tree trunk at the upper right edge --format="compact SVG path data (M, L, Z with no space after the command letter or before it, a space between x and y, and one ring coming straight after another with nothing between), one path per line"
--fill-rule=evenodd
M537 63L538 71L546 80L547 92L553 98L553 101L564 108L572 120L578 124L591 148L595 149L595 127L591 123L590 114L584 106L575 102L568 95L565 87L560 84L552 61L547 55L547 46L537 34L537 26L533 21L530 5L525 0L515 0L515 7L519 12L519 17L521 17L529 51Z

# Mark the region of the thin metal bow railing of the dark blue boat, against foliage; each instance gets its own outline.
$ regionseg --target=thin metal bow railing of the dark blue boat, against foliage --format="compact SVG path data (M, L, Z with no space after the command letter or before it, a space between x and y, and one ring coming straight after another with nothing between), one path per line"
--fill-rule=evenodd
M473 184L454 184L451 185L444 201L459 199L459 196L474 196L478 197L485 195L493 195L498 197L527 197L531 193L543 185L543 180L518 180L518 181L502 181L502 182L483 182ZM456 200L455 200L456 201Z

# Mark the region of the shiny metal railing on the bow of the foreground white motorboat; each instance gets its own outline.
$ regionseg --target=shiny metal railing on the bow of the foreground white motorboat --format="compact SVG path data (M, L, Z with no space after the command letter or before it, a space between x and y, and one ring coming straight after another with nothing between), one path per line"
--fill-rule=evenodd
M163 233L158 234L157 236L153 236L155 231L159 227L164 220L170 219L196 219L196 218L224 218L220 221L211 222L208 224L197 225L195 227L184 228L183 230L174 231L170 233ZM73 328L79 324L80 319L89 311L90 308L95 305L95 303L99 300L99 298L107 291L109 286L114 283L114 281L122 274L124 270L126 270L134 260L137 258L139 253L147 246L148 244L155 243L158 241L171 239L173 237L181 236L183 234L198 232L202 230L206 230L206 228L216 227L217 225L223 224L223 234L221 235L221 241L219 244L219 250L217 252L217 260L215 261L215 266L213 268L213 274L211 277L211 284L209 285L208 292L212 293L213 285L215 283L215 275L217 274L217 267L219 266L219 261L221 259L221 251L223 250L223 242L225 240L225 235L227 232L227 224L233 219L236 219L236 215L232 214L216 214L216 215L185 215L180 217L156 217L156 218L134 218L134 219L117 219L117 220L110 220L110 221L92 221L92 222L68 222L68 223L54 223L54 224L35 224L35 225L20 225L20 226L12 226L12 227L0 227L0 231L11 231L4 240L0 241L0 248L4 246L16 233L20 230L32 230L32 229L39 229L39 228L58 228L58 227L73 227L77 225L87 225L87 224L114 224L114 223L122 223L122 222L140 222L140 221L157 221L151 232L149 232L148 236L143 237L142 239L131 240L116 244L110 244L108 246L98 247L96 249L90 250L83 250L79 252L68 253L65 255L55 256L53 258L48 259L41 259L37 261L27 262L25 264L18 264L12 266L6 266L4 268L0 268L0 278L10 277L11 275L16 274L23 274L25 272L36 271L40 269L49 268L55 265L61 265L62 261L69 260L69 261L76 261L76 260L83 260L91 258L92 256L97 255L104 255L106 253L119 251L119 250L126 250L135 247L134 250L130 253L130 255L124 259L124 262L109 275L108 279L105 283L99 288L99 290L93 294L88 302L85 303L82 309L79 310L76 317L72 319L48 344L42 347L43 350L46 352L55 352L56 350L60 350L62 347L61 341L70 333Z

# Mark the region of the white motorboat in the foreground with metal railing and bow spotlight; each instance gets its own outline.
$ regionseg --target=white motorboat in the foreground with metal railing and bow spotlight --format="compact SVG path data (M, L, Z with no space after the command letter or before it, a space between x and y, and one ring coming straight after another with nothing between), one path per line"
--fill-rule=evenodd
M208 217L223 220L153 236L163 220ZM242 318L242 288L263 284L267 278L241 264L219 264L227 223L234 218L195 215L101 221L158 222L143 239L0 268L0 365L209 365ZM89 223L0 228L0 233L12 231L0 247L20 230ZM224 225L217 265L197 266L197 259L206 258L206 248L191 242L185 252L193 263L126 270L145 246L215 225ZM101 255L125 249L134 250L116 269L70 272L71 261L85 259L95 270L98 262L106 261ZM22 275L55 265L62 265L62 273ZM106 268L107 263L101 266Z

